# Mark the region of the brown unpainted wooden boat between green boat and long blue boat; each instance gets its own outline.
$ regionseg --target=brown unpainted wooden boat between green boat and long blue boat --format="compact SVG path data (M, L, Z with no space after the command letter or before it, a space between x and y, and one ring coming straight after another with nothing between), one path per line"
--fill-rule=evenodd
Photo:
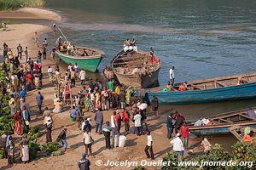
M143 51L121 51L110 61L110 67L118 81L133 88L152 88L159 85L160 63L149 66L150 55ZM125 73L125 67L130 69ZM138 69L137 73L132 73Z

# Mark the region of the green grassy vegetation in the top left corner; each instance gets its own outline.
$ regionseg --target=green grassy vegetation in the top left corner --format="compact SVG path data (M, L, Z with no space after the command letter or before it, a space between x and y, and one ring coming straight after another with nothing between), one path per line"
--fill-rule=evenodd
M0 0L0 10L15 10L21 7L44 7L45 0Z

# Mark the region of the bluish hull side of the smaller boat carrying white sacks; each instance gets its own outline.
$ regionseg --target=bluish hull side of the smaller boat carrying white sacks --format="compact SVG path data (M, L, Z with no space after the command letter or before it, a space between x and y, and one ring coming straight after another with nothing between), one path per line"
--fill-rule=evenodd
M234 125L233 125L234 126ZM256 127L256 122L252 123L252 124L245 124L243 125L244 127ZM232 126L225 126L225 127L201 127L200 129L193 129L193 127L191 127L189 129L190 133L193 133L197 136L210 136L210 135L220 135L220 134L228 134L230 133L230 129L229 127Z

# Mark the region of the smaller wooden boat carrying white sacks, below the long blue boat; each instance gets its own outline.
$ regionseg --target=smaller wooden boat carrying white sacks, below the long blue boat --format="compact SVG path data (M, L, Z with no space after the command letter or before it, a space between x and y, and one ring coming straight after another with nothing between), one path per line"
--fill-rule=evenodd
M254 111L256 108L248 108L240 111L209 116L207 119L213 122L212 125L194 126L195 122L188 123L189 131L195 135L218 135L231 133L230 127L256 127L256 116L250 117L247 111Z

